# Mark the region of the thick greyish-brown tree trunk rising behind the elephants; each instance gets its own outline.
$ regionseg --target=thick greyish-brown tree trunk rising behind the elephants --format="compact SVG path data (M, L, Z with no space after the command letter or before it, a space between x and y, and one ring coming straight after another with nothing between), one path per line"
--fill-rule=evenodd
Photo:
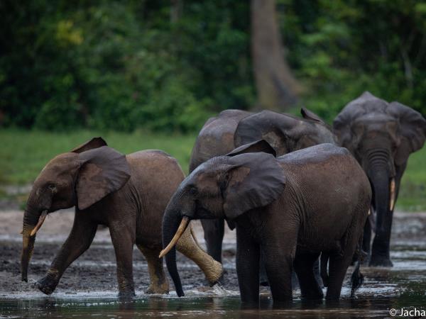
M300 86L285 62L275 0L251 0L251 50L259 106L283 111L297 103Z

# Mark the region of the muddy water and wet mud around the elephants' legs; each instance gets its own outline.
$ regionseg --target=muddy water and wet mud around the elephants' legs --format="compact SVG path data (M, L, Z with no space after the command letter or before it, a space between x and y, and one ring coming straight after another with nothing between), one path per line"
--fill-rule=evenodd
M399 220L400 226L393 235L394 267L362 267L364 286L356 292L355 299L349 298L349 274L352 270L349 269L339 303L305 303L300 300L300 291L296 290L291 305L274 308L268 289L262 289L261 308L258 310L246 309L239 301L232 234L227 234L224 245L227 272L224 286L206 286L199 269L179 257L185 298L178 298L174 291L168 296L143 293L149 282L147 265L141 254L135 251L134 277L138 289L136 299L131 302L116 298L114 250L107 239L107 230L98 232L92 247L67 269L51 296L34 289L33 283L48 269L62 238L54 237L53 233L45 237L40 234L27 284L20 281L20 238L2 235L0 318L386 318L391 317L389 311L392 308L398 311L397 314L401 308L426 310L424 228L413 231L413 227L408 227L425 225L426 216L420 217L404 216Z

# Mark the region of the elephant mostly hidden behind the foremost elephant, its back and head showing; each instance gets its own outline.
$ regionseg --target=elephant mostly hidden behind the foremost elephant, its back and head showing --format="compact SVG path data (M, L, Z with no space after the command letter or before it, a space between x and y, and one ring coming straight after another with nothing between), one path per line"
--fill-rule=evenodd
M278 156L324 142L336 143L329 125L315 113L301 108L302 118L273 111L250 113L226 110L209 118L195 141L190 172L215 156L226 155L234 148L256 140L266 140ZM229 228L234 225L228 221ZM222 262L224 219L202 220L207 252Z

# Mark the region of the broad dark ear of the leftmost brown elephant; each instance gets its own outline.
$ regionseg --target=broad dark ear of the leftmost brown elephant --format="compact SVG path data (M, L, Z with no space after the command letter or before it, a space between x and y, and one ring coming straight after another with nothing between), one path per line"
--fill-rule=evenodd
M108 194L121 189L130 178L126 156L102 146L81 152L77 179L77 203L80 210L92 206Z

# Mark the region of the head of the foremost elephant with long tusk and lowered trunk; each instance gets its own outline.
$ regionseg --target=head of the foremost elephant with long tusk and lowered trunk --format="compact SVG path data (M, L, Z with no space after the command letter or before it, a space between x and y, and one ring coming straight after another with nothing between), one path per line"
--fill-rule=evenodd
M160 257L167 254L165 261L178 296L183 296L183 291L174 245L189 221L234 220L246 211L272 203L285 186L285 177L274 155L267 142L252 142L209 159L182 181L163 216L165 249L160 254Z

